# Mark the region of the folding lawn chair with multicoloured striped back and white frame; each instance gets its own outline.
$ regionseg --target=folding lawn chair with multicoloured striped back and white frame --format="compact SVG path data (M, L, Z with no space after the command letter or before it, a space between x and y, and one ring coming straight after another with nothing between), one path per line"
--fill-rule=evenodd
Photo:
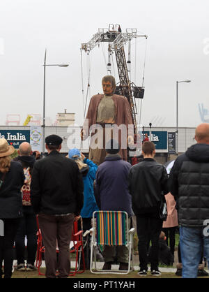
M134 228L129 230L127 212L95 211L93 212L93 228L91 228L91 263L90 270L95 274L128 274L132 270L132 245ZM125 245L129 251L128 270L102 270L96 261L97 246Z

